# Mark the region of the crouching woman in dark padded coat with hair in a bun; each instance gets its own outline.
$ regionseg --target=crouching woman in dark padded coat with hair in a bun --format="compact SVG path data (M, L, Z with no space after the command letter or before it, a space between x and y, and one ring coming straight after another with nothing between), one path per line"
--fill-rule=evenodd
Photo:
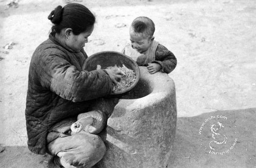
M36 48L29 67L28 148L53 155L49 167L89 168L101 160L106 147L98 135L69 134L70 118L87 112L94 99L110 94L122 74L82 70L88 58L83 47L95 22L87 7L58 6L48 19L54 24L49 39Z

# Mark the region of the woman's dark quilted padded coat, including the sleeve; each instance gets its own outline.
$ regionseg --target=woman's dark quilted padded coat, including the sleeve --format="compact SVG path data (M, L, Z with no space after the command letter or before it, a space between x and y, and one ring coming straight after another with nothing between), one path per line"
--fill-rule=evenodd
M104 70L82 69L87 58L83 49L65 48L52 34L36 48L29 67L25 112L32 152L47 152L47 132L54 123L85 113L93 99L111 93L113 85Z

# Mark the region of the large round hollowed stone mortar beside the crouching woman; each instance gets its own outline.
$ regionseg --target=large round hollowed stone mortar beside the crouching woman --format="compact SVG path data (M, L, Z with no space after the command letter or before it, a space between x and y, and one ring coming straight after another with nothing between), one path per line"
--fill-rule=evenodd
M176 133L174 81L165 73L141 78L123 95L99 134L107 152L96 168L166 168Z

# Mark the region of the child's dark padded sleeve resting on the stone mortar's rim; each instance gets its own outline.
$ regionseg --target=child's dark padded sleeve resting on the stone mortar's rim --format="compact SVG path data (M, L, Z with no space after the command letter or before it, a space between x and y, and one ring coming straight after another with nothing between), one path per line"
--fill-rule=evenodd
M155 61L152 63L160 64L162 67L160 71L169 74L176 67L177 59L172 52L170 52L163 45L159 44L155 51Z

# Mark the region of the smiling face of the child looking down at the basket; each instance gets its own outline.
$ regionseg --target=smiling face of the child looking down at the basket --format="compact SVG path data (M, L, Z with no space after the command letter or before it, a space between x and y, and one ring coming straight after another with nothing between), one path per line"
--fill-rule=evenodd
M148 35L143 33L136 33L132 29L130 30L130 40L132 47L139 53L143 53L148 50L154 37L149 38Z

